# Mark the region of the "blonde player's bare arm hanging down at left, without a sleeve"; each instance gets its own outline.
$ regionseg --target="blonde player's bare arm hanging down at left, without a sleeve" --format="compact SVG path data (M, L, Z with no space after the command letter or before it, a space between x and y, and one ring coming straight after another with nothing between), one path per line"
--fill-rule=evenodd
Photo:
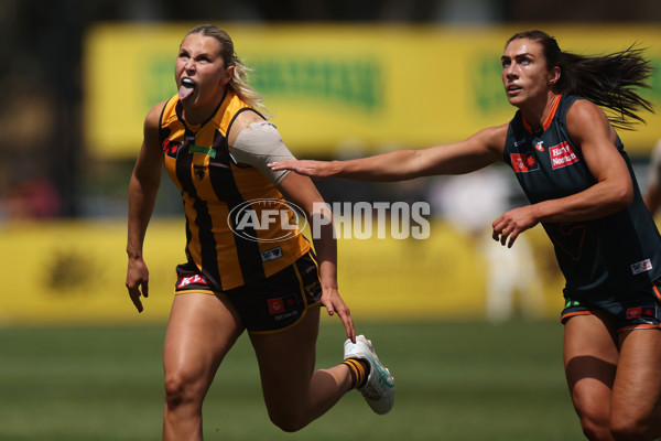
M142 256L142 246L163 169L163 153L159 144L159 118L162 108L162 105L154 107L144 120L144 140L129 184L127 238L129 265L126 284L138 312L142 312L143 309L140 295L145 298L149 295L149 270Z

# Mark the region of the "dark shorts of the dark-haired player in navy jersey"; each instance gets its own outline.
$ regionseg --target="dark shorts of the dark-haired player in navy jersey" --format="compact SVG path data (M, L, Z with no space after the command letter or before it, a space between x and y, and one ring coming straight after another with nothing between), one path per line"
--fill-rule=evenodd
M615 318L617 330L620 332L661 327L661 290L659 281L631 293L625 299L587 302L565 297L565 308L561 316L563 324L572 316L603 311Z

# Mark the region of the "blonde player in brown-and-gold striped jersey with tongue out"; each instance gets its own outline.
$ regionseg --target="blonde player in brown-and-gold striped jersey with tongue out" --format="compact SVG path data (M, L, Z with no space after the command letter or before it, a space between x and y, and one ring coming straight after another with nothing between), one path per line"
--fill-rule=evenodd
M282 430L305 427L354 388L377 413L387 413L394 399L392 376L370 341L356 336L337 291L332 225L322 223L313 238L316 256L289 228L293 213L283 208L285 198L313 223L329 213L321 211L323 200L308 178L267 166L293 157L257 111L261 97L246 74L225 31L193 29L176 57L178 94L147 116L131 176L126 284L138 311L140 297L148 297L142 248L163 164L184 203L187 261L176 268L163 349L164 440L202 440L204 397L243 330L257 354L269 416ZM284 214L285 224L238 217L250 212L264 219L273 211L280 211L277 220ZM337 313L348 340L342 364L315 372L319 305Z

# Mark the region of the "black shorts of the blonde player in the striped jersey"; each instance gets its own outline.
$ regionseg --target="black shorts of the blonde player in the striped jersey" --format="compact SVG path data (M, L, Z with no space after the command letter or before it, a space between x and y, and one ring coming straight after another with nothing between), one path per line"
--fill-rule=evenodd
M215 290L195 265L180 265L176 272L175 294L227 295L243 326L254 333L273 333L294 326L307 309L318 305L322 299L317 266L311 252L262 281L229 290Z

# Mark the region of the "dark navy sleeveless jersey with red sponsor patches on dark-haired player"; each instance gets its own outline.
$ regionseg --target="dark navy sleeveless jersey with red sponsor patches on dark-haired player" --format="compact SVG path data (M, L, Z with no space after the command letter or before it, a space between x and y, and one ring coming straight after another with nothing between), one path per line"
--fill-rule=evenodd
M560 96L539 132L532 131L521 110L509 123L505 161L532 204L565 197L596 183L579 147L567 133L566 114L577 99L582 98ZM619 137L616 147L633 181L633 202L593 220L542 224L566 279L564 294L571 299L620 298L661 276L661 237Z

